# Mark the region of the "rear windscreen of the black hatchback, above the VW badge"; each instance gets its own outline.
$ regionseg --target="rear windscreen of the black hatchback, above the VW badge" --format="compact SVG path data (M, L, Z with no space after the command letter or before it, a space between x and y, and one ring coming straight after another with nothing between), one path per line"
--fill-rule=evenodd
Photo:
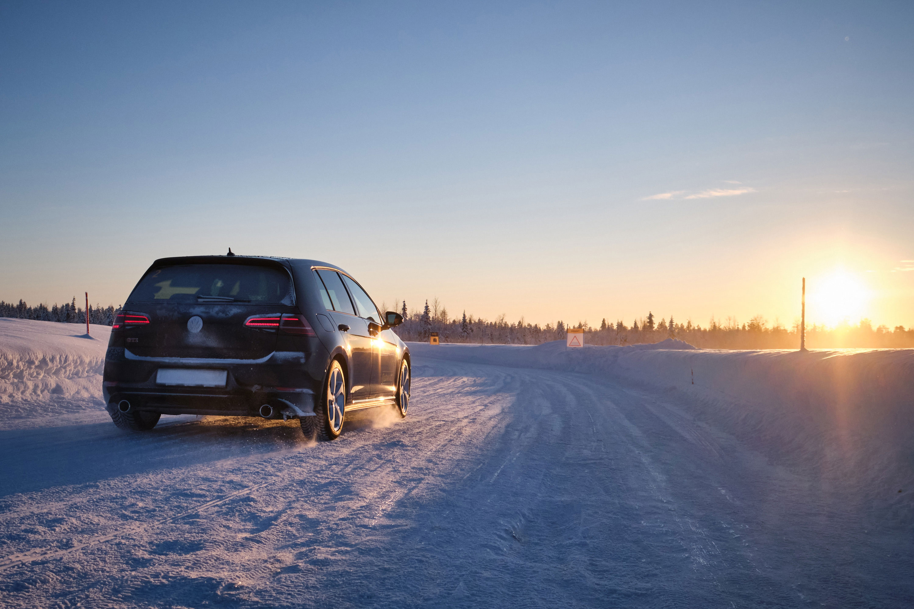
M273 267L196 264L155 268L128 302L251 302L294 304L289 273Z

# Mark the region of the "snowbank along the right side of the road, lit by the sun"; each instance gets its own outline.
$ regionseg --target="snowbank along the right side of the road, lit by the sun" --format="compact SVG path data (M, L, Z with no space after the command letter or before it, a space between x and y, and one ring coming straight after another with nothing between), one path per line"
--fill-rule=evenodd
M672 347L672 348L671 348ZM449 360L621 378L775 462L888 498L914 486L914 350L707 351L682 341L566 349L410 343Z

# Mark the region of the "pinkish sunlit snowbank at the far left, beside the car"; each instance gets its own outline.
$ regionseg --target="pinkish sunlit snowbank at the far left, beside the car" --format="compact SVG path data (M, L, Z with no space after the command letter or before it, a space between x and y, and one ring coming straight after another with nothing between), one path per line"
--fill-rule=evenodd
M95 410L109 326L0 318L0 418Z

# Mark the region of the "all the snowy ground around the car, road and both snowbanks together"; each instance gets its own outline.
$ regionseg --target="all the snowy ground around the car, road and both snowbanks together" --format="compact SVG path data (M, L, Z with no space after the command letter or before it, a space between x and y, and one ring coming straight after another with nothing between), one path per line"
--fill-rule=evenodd
M125 435L82 331L0 319L0 606L914 606L911 350L410 344L315 445Z

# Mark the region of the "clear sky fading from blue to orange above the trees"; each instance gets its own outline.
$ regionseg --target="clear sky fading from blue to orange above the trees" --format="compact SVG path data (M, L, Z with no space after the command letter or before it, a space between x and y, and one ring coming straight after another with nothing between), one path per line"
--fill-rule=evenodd
M117 304L232 247L541 323L789 324L844 273L914 325L911 31L900 2L5 3L0 299Z

